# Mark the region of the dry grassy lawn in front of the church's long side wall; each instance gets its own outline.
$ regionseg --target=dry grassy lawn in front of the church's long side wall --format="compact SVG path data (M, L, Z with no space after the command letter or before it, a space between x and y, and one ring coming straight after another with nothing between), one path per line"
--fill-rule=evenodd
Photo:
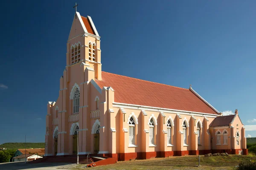
M256 160L256 156L201 156L202 167L198 165L198 156L173 156L147 160L118 161L116 164L90 167L88 170L234 170L241 161ZM75 169L84 169L79 165Z

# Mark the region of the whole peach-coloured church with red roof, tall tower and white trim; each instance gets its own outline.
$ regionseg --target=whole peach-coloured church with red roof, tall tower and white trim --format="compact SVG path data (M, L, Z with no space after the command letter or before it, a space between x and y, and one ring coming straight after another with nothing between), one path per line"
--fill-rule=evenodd
M222 116L191 86L102 71L99 33L92 18L79 12L67 40L66 61L58 99L47 104L45 156L79 152L124 161L247 154L237 110Z

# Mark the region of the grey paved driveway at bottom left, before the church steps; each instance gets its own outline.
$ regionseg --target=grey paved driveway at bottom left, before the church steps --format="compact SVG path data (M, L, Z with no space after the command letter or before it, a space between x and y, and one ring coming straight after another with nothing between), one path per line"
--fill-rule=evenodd
M64 165L73 166L74 164L70 163L36 163L30 164L24 161L20 162L8 162L8 163L1 163L0 170L60 170L57 168L61 168ZM65 166L68 167L68 166Z

